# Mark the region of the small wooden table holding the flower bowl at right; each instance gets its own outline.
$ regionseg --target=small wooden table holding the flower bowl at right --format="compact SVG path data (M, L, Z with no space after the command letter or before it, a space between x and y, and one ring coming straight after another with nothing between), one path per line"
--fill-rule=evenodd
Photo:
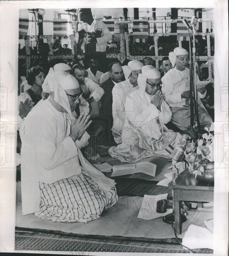
M173 189L175 230L181 234L181 201L212 202L214 182L195 179L195 176L185 169L168 186Z

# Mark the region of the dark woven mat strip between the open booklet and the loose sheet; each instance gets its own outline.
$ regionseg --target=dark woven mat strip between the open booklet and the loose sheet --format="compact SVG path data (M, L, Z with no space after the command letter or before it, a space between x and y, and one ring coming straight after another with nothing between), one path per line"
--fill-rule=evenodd
M140 196L167 194L167 199L172 199L171 188L156 185L157 181L143 179L115 179L118 196Z

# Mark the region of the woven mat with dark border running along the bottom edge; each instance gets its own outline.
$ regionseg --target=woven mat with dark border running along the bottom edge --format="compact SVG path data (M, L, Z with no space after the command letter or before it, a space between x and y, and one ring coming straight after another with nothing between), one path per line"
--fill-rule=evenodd
M106 237L18 227L15 228L15 250L189 253L175 238ZM213 250L195 252L213 253Z

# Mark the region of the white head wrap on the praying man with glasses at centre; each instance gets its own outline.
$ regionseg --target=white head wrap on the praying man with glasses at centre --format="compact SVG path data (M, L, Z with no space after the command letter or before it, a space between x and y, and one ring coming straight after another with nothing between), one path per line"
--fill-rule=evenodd
M146 65L142 67L142 74L138 74L137 83L139 88L144 92L146 89L146 80L158 78L161 78L159 70L151 65Z

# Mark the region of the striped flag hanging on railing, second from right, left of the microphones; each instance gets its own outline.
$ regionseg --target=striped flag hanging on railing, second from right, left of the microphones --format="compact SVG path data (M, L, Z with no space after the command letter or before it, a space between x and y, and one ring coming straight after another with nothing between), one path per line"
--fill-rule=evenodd
M134 42L145 42L148 38L148 21L133 22L133 40Z

